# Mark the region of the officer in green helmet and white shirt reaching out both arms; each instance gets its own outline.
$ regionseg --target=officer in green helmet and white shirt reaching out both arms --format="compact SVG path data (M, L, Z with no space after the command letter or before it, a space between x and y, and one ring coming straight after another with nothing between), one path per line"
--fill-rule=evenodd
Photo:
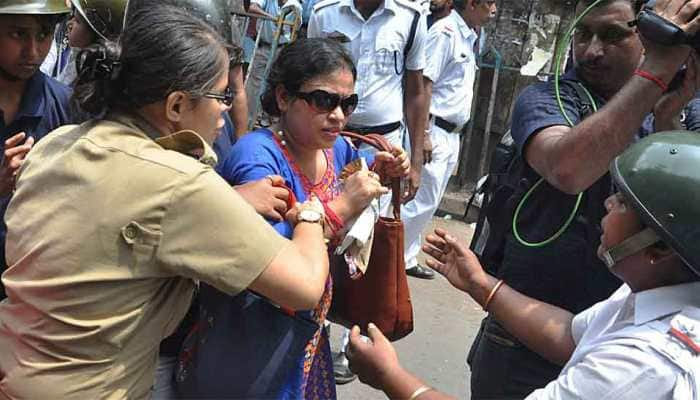
M598 255L623 285L572 314L487 274L444 230L428 265L467 292L528 348L564 368L526 399L700 399L700 136L661 132L615 158ZM565 262L565 261L563 261ZM562 265L562 268L565 267ZM392 398L444 399L398 364L376 328L351 336L351 367Z

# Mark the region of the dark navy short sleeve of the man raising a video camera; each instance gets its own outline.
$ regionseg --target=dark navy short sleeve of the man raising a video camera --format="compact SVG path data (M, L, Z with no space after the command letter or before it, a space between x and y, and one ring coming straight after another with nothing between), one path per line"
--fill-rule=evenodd
M571 85L560 85L562 105L574 124L581 121L581 105ZM522 154L531 136L555 125L569 126L562 115L554 93L554 83L536 83L528 86L518 97L513 108L511 135Z

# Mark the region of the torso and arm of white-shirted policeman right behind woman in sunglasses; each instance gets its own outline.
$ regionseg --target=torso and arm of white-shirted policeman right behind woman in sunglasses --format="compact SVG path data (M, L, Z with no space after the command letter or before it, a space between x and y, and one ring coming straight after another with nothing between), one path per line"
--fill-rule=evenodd
M423 90L427 28L418 4L408 0L324 0L314 7L308 36L345 43L355 62L359 103L348 130L383 134L391 144L401 146L401 121L406 110L412 170L406 200L413 198L420 184L428 105Z

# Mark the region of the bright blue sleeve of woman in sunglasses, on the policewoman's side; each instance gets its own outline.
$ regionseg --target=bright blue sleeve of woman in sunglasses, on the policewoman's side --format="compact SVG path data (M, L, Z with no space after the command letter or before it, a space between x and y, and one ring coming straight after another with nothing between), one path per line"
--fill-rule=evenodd
M254 182L268 175L280 175L286 185L291 187L292 175L289 166L284 162L284 155L270 134L265 131L254 131L244 135L219 165L219 174L231 185ZM292 237L293 229L288 222L268 222L280 235Z

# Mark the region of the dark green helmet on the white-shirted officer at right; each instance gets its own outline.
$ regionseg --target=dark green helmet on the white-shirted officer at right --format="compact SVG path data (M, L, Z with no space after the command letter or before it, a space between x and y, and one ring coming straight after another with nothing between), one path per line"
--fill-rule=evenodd
M632 145L610 172L642 221L700 274L700 135L662 132Z

